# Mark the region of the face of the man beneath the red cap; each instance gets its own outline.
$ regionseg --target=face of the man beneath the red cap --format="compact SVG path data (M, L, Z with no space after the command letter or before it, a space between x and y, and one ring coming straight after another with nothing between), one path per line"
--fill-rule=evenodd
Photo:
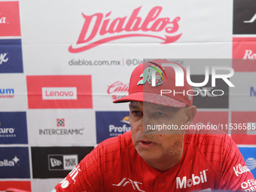
M139 155L149 164L179 160L183 151L184 133L180 130L148 131L147 126L187 123L187 108L171 108L143 102L130 103L130 125L133 144ZM144 131L143 133L143 125ZM147 134L148 133L148 134ZM168 134L166 134L168 133ZM153 166L154 167L154 166Z

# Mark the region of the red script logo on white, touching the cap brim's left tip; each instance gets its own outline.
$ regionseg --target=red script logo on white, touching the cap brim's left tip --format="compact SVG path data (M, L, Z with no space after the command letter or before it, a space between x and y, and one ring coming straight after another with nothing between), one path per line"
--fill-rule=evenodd
M107 93L112 96L112 99L120 99L126 96L129 91L129 84L123 84L120 81L116 81L108 86Z

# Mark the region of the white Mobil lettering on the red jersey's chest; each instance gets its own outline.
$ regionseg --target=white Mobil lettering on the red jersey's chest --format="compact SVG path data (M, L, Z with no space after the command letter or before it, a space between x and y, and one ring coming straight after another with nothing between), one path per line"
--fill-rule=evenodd
M200 172L200 175L192 174L192 177L187 179L187 176L184 176L182 179L180 177L176 178L176 189L182 189L187 187L192 187L197 184L203 184L207 182L206 172L208 169L205 169Z

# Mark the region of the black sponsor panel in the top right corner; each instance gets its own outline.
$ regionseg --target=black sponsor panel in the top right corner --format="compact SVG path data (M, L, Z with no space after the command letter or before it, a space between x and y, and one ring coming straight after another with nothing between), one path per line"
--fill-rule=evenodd
M255 2L233 0L233 34L256 34Z

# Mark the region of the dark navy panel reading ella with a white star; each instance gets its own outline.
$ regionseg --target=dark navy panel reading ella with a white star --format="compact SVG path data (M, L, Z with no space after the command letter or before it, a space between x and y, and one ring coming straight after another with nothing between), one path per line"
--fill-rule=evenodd
M0 148L0 178L30 178L29 148Z

